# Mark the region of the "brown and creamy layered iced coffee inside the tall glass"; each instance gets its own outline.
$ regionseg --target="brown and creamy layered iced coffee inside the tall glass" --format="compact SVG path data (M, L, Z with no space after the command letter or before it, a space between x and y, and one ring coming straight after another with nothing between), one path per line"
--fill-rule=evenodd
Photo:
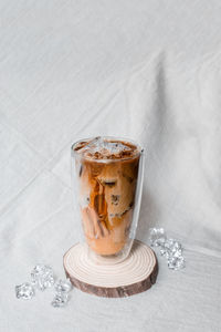
M81 152L82 147L76 146L75 151ZM108 152L90 149L81 155L80 200L87 243L99 255L115 255L124 248L129 235L139 154L131 145L126 155L119 151L109 158ZM104 163L104 158L108 160Z

